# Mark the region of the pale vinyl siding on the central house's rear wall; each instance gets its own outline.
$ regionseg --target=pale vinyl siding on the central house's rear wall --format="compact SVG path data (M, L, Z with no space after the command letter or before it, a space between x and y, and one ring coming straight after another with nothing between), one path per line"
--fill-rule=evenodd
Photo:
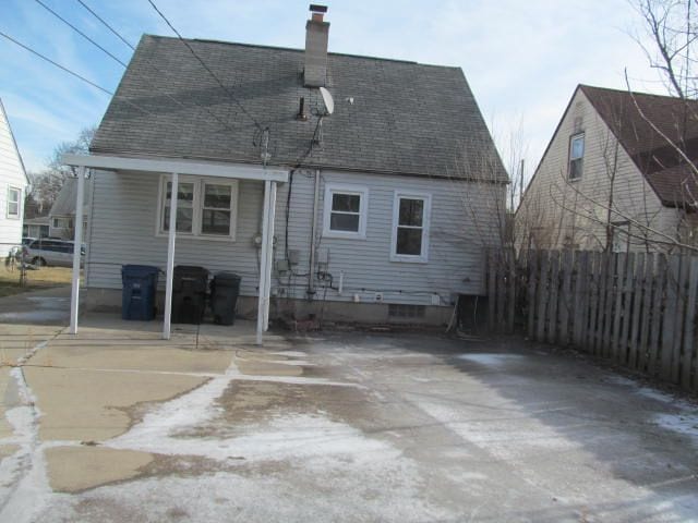
M157 217L158 175L98 171L94 182L91 248L87 260L87 287L120 289L122 264L165 267L167 238L153 236ZM483 292L483 248L498 241L498 219L491 209L491 197L504 198L504 187L489 183L455 182L416 177L378 175L323 171L317 209L316 248L326 252L328 280L317 281L322 297L328 301L361 302L383 293L385 303L431 305L434 293L441 303L450 304L452 294ZM356 242L322 234L325 216L325 187L350 184L369 190L365 239ZM431 194L429 263L395 264L390 262L390 238L395 192L410 187L411 193ZM195 236L178 236L174 264L200 265L213 272L229 270L242 277L241 295L256 295L258 251L254 238L262 230L262 182L240 181L237 238L229 242L206 242ZM288 248L298 252L293 275L274 275L273 292L287 285L286 296L306 297L310 271L310 240L313 221L314 177L297 175L288 212ZM276 208L275 260L285 258L286 203L288 184L279 184ZM469 202L468 204L464 202ZM503 202L503 199L502 199ZM500 206L502 207L502 206ZM337 283L344 272L344 291ZM316 271L313 271L316 273ZM288 284L290 282L290 284ZM318 296L320 297L320 296Z

